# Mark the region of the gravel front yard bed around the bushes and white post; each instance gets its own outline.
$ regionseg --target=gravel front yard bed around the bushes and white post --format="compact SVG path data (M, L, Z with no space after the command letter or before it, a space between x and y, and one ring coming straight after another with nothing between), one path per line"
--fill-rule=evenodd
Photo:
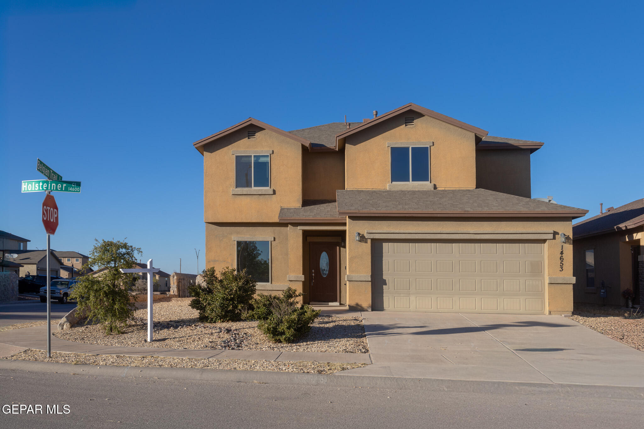
M153 306L155 341L146 342L147 307L140 307L135 321L123 334L106 335L100 325L84 325L56 331L62 340L99 345L163 347L167 349L267 350L298 352L368 353L365 327L361 317L319 316L311 331L298 342L273 343L259 329L257 322L204 324L198 312L189 307L192 298L156 301Z

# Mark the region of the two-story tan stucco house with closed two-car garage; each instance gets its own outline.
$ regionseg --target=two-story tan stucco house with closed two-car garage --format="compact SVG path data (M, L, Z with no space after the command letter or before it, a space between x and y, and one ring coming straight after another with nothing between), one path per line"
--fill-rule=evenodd
M570 313L572 219L587 210L531 199L544 143L487 134L407 104L290 132L249 118L198 140L206 266L356 309Z

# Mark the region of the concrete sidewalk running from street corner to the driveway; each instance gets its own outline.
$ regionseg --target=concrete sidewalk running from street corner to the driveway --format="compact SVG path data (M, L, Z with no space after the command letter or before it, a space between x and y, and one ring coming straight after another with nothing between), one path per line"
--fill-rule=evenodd
M52 332L54 331L55 327L52 327ZM10 331L0 333L0 356L10 356L16 351L24 349L46 350L47 327L27 327L22 329L12 329ZM120 354L124 356L166 356L171 358L371 363L371 356L368 353L280 352L216 349L188 350L163 349L161 347L119 347L71 342L61 340L53 335L52 351L87 354Z

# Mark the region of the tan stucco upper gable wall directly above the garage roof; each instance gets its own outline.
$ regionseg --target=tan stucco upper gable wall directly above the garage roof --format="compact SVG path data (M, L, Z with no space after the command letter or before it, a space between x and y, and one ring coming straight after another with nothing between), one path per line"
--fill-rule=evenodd
M404 126L404 118L415 125ZM476 187L475 134L419 113L403 113L346 138L346 189L386 189L390 183L388 142L433 141L430 181L437 188Z

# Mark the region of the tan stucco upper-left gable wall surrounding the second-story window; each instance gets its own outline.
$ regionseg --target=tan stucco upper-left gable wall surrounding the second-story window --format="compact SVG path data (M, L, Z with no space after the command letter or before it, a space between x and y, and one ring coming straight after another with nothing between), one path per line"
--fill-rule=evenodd
M256 131L249 139L248 131ZM204 146L204 221L274 222L280 206L301 206L301 143L249 125ZM274 151L270 187L274 195L231 195L235 187L232 150Z

